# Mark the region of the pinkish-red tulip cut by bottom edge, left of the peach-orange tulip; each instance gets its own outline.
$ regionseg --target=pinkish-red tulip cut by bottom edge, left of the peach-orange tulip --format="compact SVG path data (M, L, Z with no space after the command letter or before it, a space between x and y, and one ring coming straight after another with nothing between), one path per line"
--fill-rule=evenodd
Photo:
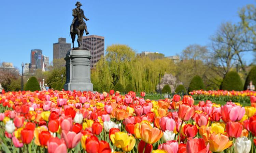
M202 138L188 138L186 143L187 153L209 153L209 143L205 146Z

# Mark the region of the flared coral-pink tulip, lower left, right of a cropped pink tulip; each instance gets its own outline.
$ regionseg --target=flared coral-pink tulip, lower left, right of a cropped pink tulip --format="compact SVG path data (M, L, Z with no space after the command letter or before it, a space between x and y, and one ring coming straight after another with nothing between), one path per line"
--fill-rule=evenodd
M72 149L74 147L76 147L76 145L80 142L81 137L82 137L82 133L78 133L76 134L73 131L62 131L62 136L66 142L66 145L68 148Z

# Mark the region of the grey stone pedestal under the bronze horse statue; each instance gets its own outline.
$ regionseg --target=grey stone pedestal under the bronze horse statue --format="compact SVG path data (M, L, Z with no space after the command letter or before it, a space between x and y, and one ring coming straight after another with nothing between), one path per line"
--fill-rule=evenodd
M93 91L90 58L86 48L73 48L67 53L65 90Z

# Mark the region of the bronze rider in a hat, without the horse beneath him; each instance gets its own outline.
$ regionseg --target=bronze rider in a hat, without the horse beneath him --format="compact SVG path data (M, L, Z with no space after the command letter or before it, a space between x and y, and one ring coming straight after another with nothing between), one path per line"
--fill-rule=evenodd
M87 19L85 16L84 16L84 11L80 8L82 6L82 4L80 2L76 2L76 8L73 9L73 21L72 21L72 24L70 26L70 33L73 33L73 27L74 27L74 23L77 19L79 19L79 24L82 24L82 22L84 22L83 19L85 19L86 21L88 21L89 19ZM81 19L79 18L81 17ZM82 20L82 21L81 21ZM85 24L85 22L84 22ZM87 31L87 26L85 24L85 32L86 32L86 35L89 34L89 32Z

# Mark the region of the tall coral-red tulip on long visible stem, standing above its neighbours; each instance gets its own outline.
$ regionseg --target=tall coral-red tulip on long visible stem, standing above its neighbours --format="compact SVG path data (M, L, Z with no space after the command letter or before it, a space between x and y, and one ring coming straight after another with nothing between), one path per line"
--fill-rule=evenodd
M195 114L195 108L186 104L179 106L178 115L181 120L188 121Z

